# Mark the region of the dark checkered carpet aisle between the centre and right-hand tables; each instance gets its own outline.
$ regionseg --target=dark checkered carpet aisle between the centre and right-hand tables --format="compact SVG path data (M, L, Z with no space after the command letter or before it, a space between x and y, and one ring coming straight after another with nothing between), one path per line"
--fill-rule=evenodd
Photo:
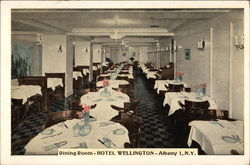
M135 98L140 100L139 116L142 118L141 148L176 147L174 128L167 119L162 98L155 93L152 85L141 71L135 71Z

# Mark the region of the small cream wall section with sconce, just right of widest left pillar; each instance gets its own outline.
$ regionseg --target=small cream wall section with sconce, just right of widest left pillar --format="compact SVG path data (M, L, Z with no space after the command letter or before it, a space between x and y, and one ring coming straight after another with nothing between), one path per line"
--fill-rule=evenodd
M88 52L86 52L86 49ZM90 42L75 41L75 65L90 65Z

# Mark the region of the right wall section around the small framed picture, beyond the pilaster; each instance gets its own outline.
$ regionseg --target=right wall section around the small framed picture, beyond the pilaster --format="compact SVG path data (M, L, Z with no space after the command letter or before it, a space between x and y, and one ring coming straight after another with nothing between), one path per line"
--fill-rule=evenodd
M177 71L183 72L183 81L190 85L192 91L196 92L199 88L199 84L206 82L207 93L209 94L209 49L208 45L204 51L197 49L197 42L203 37L208 42L210 36L209 26L203 27L203 22L199 21L197 24L185 29L181 33L177 34L176 41L178 45L182 46L176 54ZM191 60L186 60L184 56L184 49L191 50Z

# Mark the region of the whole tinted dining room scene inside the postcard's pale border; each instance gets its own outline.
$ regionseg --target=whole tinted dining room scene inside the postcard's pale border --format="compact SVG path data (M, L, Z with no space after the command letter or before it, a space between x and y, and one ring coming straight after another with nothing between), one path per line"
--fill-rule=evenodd
M246 153L244 7L10 14L11 155Z

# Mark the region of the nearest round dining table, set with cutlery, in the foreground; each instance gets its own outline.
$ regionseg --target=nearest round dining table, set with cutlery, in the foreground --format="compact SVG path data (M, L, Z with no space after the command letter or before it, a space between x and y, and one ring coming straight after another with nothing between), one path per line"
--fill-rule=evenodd
M119 123L70 119L46 128L24 147L25 155L57 155L58 149L124 148L128 130Z

